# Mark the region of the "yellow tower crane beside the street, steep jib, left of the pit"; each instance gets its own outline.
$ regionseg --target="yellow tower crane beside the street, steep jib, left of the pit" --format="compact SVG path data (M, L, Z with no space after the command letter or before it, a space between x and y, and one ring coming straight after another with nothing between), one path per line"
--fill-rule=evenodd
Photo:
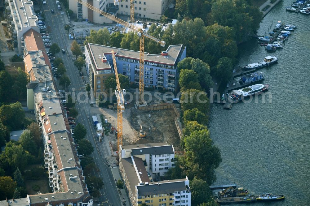
M115 77L116 77L115 95L116 95L116 99L117 99L117 151L119 151L119 145L123 145L123 138L122 138L122 135L123 135L123 114L122 114L122 112L125 111L124 94L126 94L126 90L121 89L121 85L119 84L115 54L114 54L113 50L111 52L112 52L114 71L115 71Z

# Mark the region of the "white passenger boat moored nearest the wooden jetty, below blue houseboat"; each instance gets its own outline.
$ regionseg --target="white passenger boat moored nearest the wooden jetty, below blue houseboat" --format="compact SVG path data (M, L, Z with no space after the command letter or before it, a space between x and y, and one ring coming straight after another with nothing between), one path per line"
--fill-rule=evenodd
M244 97L251 96L258 92L266 91L268 87L268 84L254 84L246 88L232 90L228 96L232 99L232 101L241 101L241 99Z

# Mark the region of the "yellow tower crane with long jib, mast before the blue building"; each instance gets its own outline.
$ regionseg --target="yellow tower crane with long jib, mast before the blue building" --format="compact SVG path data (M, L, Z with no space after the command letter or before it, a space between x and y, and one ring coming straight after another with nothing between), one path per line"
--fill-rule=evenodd
M126 21L123 21L122 19L117 18L116 16L113 16L107 12L101 11L100 9L90 5L87 2L83 2L82 0L75 0L78 3L82 4L83 6L86 6L87 8L98 12L99 14L117 22L118 24L122 24L125 27L129 27L129 23ZM133 7L133 3L132 6ZM131 12L132 13L132 12ZM133 15L133 13L131 14ZM131 22L132 23L132 22ZM166 46L166 42L159 40L155 38L154 36L148 35L147 33L144 33L144 31L141 28L135 27L133 23L131 24L131 30L137 33L140 39L140 55L139 55L139 100L140 102L144 102L143 93L144 93L144 37L147 37L153 41L156 41L159 43L162 47Z

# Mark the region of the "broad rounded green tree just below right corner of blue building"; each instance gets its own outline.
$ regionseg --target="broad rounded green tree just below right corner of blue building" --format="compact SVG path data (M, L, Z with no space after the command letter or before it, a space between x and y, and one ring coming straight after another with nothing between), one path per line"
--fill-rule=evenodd
M196 89L188 89L182 92L181 95L182 111L194 108L197 108L203 114L209 114L210 100L207 97L206 92L202 92Z

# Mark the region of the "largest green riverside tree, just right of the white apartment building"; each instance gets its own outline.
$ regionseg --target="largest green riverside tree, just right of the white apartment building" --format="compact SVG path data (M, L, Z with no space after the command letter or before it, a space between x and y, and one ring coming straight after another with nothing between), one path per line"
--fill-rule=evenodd
M193 131L190 135L184 136L183 141L186 152L182 166L188 178L203 179L211 185L216 180L214 170L219 166L222 158L219 148L213 145L210 139L210 132L206 129Z

